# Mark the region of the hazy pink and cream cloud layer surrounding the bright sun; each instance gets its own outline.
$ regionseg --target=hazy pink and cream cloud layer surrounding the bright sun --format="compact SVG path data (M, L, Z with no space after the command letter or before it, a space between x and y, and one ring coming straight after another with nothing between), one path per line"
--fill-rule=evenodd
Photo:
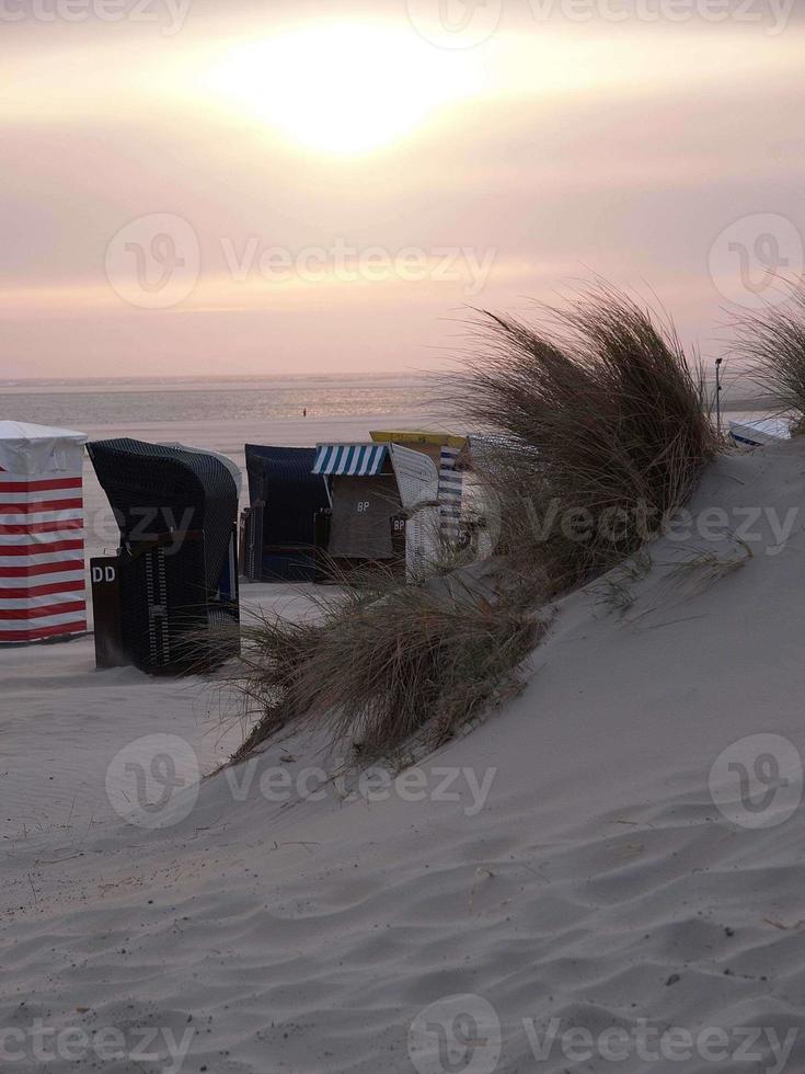
M410 35L394 10L386 25ZM223 18L196 0L171 38L27 24L7 38L3 26L0 345L12 375L74 362L124 372L137 354L154 374L168 361L209 372L221 353L265 372L288 355L307 369L370 367L378 355L400 367L447 345L469 300L461 278L433 272L268 287L252 273L238 284L226 243L294 259L336 241L390 256L416 247L428 265L446 247L494 251L472 301L498 309L596 271L649 282L686 331L706 336L721 316L706 268L715 236L752 213L782 214L805 233L792 118L805 104L801 23L769 38L733 24L543 26L520 12L515 35L509 4L493 39L444 57L445 70L473 72L465 93L381 151L333 158L233 108L200 77L266 27L303 27L324 11L360 15L352 3L267 14L241 0ZM156 213L188 221L202 266L189 299L161 312L126 308L104 273L113 237Z

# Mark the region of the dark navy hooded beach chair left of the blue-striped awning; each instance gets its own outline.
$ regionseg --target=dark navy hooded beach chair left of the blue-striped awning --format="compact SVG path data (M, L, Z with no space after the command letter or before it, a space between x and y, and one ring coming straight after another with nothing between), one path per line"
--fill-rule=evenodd
M249 499L243 573L254 582L312 582L315 516L329 507L312 472L315 448L246 444Z

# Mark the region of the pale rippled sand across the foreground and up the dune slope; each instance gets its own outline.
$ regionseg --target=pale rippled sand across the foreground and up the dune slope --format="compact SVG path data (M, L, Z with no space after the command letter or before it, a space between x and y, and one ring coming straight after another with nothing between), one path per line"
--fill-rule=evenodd
M784 518L804 503L797 442L720 460L695 509L725 509L735 528L740 509ZM85 641L0 654L0 1027L27 1035L13 1040L14 1069L175 1069L165 1041L187 1031L182 1069L215 1074L805 1070L802 527L797 516L780 546L760 526L751 558L715 580L702 553L740 559L741 546L664 539L623 616L600 584L563 601L525 693L429 759L424 801L269 801L261 773L318 763L289 742L256 774L205 780L183 819L196 789L175 793L168 826L123 823L104 806L116 750L159 730L211 758L199 684L96 674ZM668 564L697 557L670 576ZM789 740L761 752L778 751L790 781L752 813L729 757L709 775L760 733ZM435 767L459 773L460 800L434 800L445 797ZM482 781L488 768L478 809L467 770ZM250 775L233 795L233 777ZM769 826L745 826L752 818ZM470 1046L438 1009L426 1020L447 1025L449 1062L433 1028L417 1035L417 1021L410 1041L426 1005L463 993L476 997ZM484 1003L502 1026L499 1059ZM529 1031L541 1039L552 1017L560 1031L633 1032L647 1019L649 1033L710 1036L683 1060L657 1053L656 1036L642 1048L626 1037L617 1062L600 1049L568 1058L559 1041L538 1060ZM43 1064L27 1042L37 1018L114 1027L128 1053ZM160 1030L160 1058L138 1063L141 1027ZM747 1040L739 1027L758 1031ZM781 1066L772 1049L790 1029L801 1036ZM685 1043L665 1047L672 1056Z

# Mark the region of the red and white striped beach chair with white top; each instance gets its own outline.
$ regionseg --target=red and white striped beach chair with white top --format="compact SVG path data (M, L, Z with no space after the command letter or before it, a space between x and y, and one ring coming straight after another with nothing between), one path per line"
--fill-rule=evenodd
M87 630L85 439L0 421L0 644Z

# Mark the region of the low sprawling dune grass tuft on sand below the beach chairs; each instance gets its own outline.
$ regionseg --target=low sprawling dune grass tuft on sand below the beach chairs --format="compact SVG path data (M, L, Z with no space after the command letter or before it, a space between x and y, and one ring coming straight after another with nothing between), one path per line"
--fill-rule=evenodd
M415 735L435 747L515 685L544 628L514 589L436 579L331 591L302 622L264 616L235 679L260 720L233 759L288 727L323 728L366 761Z

